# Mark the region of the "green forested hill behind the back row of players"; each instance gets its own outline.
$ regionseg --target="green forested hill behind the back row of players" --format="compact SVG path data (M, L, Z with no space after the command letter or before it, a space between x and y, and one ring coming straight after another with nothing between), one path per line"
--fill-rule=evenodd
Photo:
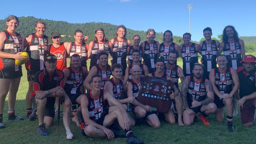
M17 32L22 34L23 36L34 33L35 32L35 22L40 20L35 17L19 17L20 25L17 29ZM53 31L58 31L61 35L65 35L62 37L62 41L71 42L74 41L74 31L80 29L84 34L89 36L89 41L93 40L96 28L103 28L108 40L116 37L116 25L103 23L103 22L87 22L83 24L72 24L64 21L55 21L55 20L47 20L43 19L47 24L47 30L45 34L50 37L50 34ZM6 30L6 20L0 20L0 31ZM141 37L141 41L146 40L146 31L137 31L127 29L126 37L128 39L132 39L134 35L139 35ZM156 41L163 41L163 33L156 33ZM88 41L87 41L88 42ZM174 36L174 42L177 44L182 43L182 37Z

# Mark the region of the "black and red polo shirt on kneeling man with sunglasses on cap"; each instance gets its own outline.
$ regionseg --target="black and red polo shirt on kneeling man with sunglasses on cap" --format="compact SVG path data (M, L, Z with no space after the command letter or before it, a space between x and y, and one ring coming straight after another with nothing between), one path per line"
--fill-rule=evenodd
M46 68L40 70L35 74L33 83L33 92L30 96L35 96L35 91L38 90L50 90L55 87L64 87L64 73L61 70L56 69L52 76L49 76Z

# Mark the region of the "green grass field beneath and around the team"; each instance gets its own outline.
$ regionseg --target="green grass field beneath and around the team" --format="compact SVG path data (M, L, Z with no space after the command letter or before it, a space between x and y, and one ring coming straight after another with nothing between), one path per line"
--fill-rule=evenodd
M255 54L254 54L255 55ZM178 61L178 65L182 66L182 62ZM87 62L89 66L89 61ZM46 127L50 135L41 136L37 133L38 121L30 122L26 118L26 102L25 96L28 90L28 81L26 78L26 70L22 67L23 76L20 81L19 91L17 93L17 101L15 105L15 113L25 118L19 122L7 121L7 98L4 108L4 124L5 129L0 129L0 144L41 144L41 143L72 143L72 144L124 144L126 138L115 138L108 140L107 138L89 138L84 137L80 133L80 128L76 127L71 122L71 130L74 133L72 140L66 139L65 128L60 121L57 126L57 116L55 118L54 126ZM226 117L226 113L224 113ZM208 117L210 126L202 124L198 119L191 126L179 127L176 125L167 124L164 120L161 121L160 129L154 129L147 124L132 127L135 135L146 144L246 144L256 143L255 129L256 126L244 127L241 125L240 112L233 118L235 130L233 133L228 133L226 120L224 122L217 122L214 115Z

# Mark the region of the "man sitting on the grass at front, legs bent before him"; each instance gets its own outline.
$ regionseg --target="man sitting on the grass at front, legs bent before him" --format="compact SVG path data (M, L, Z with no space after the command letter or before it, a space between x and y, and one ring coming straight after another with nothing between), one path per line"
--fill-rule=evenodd
M131 122L128 118L126 110L122 104L113 98L107 91L101 90L101 76L96 74L91 79L91 87L93 90L87 92L80 99L82 110L82 134L88 137L127 137L127 144L143 144L130 130ZM104 111L105 100L110 105L115 105L118 109L114 109L106 114ZM113 132L107 127L111 126L115 120L118 120L119 126L124 130L124 133Z

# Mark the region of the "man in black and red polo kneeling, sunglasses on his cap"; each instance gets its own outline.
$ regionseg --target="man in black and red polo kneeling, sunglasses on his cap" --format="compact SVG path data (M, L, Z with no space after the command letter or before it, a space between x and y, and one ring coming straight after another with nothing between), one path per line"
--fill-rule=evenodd
M45 68L35 74L32 92L32 102L37 104L38 129L40 135L49 135L45 129L54 122L55 98L63 95L64 74L56 69L57 58L55 55L48 55L45 59ZM68 98L68 97L67 97ZM65 100L70 103L70 100Z

